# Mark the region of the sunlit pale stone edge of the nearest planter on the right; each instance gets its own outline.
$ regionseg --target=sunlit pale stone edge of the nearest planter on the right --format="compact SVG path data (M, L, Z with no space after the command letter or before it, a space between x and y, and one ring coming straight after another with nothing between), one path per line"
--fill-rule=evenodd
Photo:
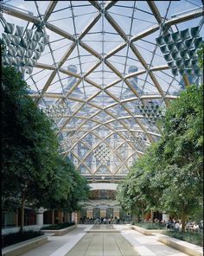
M190 244L183 240L178 240L164 234L158 236L157 240L167 246L171 246L181 251L182 253L187 253L191 256L203 256L203 248L201 246L196 246L194 244Z

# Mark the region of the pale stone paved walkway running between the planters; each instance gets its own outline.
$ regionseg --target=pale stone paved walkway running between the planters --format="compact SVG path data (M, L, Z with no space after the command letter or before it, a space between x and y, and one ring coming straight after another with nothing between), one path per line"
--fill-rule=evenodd
M50 236L48 243L21 256L187 256L158 242L155 235L140 234L128 225L113 227L120 233L87 234L92 225L78 225L62 236Z

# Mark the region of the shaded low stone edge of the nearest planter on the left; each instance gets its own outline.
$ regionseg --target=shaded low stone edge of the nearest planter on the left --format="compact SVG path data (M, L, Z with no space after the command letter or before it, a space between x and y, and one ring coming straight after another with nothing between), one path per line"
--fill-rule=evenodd
M48 242L48 235L43 234L41 236L22 241L12 246L4 247L2 250L2 256L18 256L22 253L26 253L37 246L41 246Z

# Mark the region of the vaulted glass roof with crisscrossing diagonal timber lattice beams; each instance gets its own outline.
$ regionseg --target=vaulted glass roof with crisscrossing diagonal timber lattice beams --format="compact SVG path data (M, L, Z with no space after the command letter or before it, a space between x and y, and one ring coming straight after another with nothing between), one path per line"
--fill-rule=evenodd
M201 0L1 3L3 65L22 72L30 96L54 119L61 154L82 175L123 179L160 138L157 121L169 102L185 86L201 82L196 69L201 5Z

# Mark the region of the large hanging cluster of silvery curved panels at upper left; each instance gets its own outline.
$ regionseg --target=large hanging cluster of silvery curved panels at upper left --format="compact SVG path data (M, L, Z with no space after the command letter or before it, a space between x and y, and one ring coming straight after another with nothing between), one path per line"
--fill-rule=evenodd
M2 37L6 46L3 52L3 65L14 66L22 74L31 74L48 43L49 36L39 28L24 29L5 22ZM14 61L11 57L16 60Z

